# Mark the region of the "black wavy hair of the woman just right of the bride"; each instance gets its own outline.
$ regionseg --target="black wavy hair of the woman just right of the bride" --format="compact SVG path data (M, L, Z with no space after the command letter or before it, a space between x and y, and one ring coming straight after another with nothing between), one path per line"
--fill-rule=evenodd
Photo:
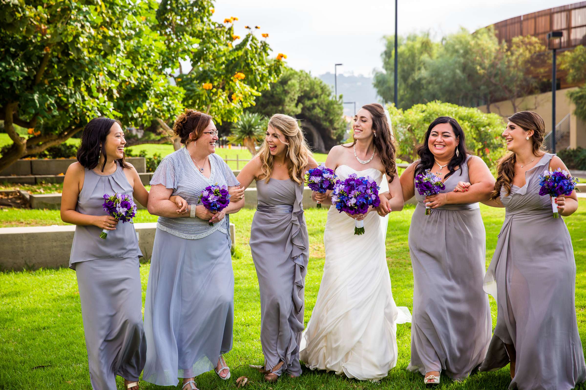
M452 130L454 131L456 139L459 140L458 146L456 146L456 150L458 150L459 156L457 156L454 152L454 156L452 156L452 159L449 160L448 173L444 176L444 180L446 180L448 177L454 174L454 172L456 171L456 167L461 167L462 164L464 164L466 161L468 151L466 150L464 130L462 130L462 127L454 118L451 118L449 116L440 116L439 118L436 118L433 122L430 123L430 127L428 127L427 132L425 132L425 139L423 140L423 143L421 143L417 147L417 149L415 149L415 151L419 155L419 162L415 167L416 176L424 172L425 170L431 169L431 167L434 166L434 154L431 153L430 146L428 145L428 143L430 141L431 130L435 126L440 125L441 123L449 123L449 125L452 126ZM462 171L460 171L460 174L462 174Z

